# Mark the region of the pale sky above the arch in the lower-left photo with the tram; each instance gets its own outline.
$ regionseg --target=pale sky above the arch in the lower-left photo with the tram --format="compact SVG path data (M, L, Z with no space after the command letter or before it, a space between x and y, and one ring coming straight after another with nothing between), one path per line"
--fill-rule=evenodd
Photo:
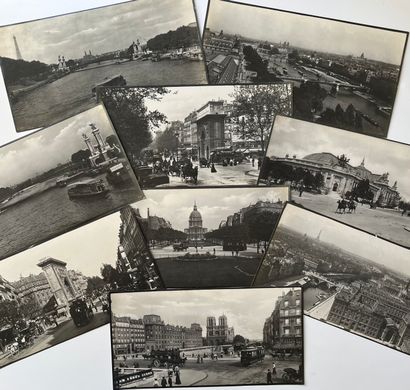
M37 275L44 257L67 263L67 269L85 276L101 276L102 264L115 265L118 248L119 212L0 261L0 275L9 282L20 276ZM81 243L81 245L79 245Z

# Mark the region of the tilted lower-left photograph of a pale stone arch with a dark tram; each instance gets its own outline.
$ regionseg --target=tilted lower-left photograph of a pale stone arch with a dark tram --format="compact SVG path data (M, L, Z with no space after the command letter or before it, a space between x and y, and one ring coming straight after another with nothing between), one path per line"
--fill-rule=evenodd
M163 288L119 212L0 262L0 367L109 322L109 291Z

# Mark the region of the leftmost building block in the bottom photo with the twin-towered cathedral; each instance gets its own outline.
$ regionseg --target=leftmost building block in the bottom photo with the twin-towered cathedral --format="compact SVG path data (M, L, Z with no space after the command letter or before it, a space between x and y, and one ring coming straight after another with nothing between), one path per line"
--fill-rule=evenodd
M111 331L116 355L145 350L145 327L141 319L114 316Z

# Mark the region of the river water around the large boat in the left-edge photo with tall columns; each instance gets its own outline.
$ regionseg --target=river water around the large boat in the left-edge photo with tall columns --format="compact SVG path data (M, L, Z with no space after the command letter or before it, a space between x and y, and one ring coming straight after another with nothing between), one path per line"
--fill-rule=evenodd
M67 188L53 187L5 209L0 213L0 259L139 199L132 187L106 185L110 192L102 199L70 200Z

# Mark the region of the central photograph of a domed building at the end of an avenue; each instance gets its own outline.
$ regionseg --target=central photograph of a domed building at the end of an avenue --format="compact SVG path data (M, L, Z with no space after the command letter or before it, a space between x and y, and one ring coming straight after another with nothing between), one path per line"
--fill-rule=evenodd
M126 207L167 288L247 287L289 198L288 187L144 191Z

